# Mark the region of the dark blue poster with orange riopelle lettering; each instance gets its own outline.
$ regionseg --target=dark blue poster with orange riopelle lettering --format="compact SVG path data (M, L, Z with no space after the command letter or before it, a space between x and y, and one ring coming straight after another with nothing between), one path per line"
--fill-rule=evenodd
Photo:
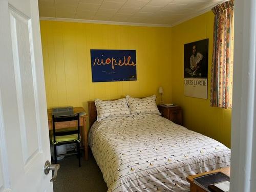
M93 82L132 81L136 76L136 50L91 49Z

